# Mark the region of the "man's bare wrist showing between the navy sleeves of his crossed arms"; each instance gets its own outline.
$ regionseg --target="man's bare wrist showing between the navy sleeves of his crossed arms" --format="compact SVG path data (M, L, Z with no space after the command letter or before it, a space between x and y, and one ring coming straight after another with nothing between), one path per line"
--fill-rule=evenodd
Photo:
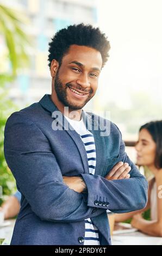
M63 176L64 183L78 193L86 192L86 185L84 180L78 176L67 177Z

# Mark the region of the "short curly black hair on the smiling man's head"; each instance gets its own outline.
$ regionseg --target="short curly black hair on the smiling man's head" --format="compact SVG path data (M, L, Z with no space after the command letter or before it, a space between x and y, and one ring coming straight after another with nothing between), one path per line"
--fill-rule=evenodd
M101 53L102 68L108 60L110 44L107 36L99 28L80 23L79 25L68 26L55 33L51 42L49 42L49 68L53 59L57 60L61 65L61 60L71 45L83 45L95 48Z

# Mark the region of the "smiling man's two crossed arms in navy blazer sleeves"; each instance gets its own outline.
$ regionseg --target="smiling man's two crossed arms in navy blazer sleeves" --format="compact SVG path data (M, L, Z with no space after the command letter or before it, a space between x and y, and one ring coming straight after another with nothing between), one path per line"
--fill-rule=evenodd
M147 182L124 153L123 143L119 162L128 162L132 168L130 179L122 179L130 169L124 169L121 174L115 168L105 178L89 174L68 178L62 176L46 136L23 113L11 115L4 135L4 154L8 166L20 192L41 220L82 221L98 216L107 209L114 212L141 209L147 202ZM117 168L120 172L121 167L123 164ZM88 193L83 193L85 189ZM97 195L107 197L110 206L96 206ZM97 210L94 211L94 208Z

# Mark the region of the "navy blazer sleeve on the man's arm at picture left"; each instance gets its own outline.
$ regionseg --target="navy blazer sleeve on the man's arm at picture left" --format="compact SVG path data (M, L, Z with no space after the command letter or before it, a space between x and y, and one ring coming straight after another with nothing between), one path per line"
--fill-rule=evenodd
M105 211L88 206L86 194L64 184L47 137L20 112L5 125L4 155L17 186L41 220L76 222Z

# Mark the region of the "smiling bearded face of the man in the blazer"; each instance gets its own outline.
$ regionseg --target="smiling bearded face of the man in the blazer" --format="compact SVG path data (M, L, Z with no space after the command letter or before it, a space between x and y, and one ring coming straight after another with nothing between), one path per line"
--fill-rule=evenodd
M71 45L54 80L58 100L71 109L81 109L95 95L102 67L101 53L94 48Z

